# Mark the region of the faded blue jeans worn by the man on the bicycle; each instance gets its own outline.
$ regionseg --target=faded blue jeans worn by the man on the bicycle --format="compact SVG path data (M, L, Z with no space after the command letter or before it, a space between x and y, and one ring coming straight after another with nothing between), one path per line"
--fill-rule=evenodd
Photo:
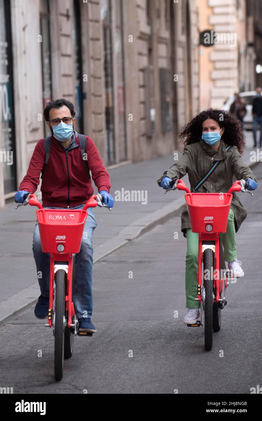
M84 206L78 209L82 209ZM52 209L50 206L45 208ZM65 208L66 209L66 208ZM87 209L82 242L79 253L75 255L75 283L73 288L73 302L77 317L91 317L93 312L92 274L93 247L92 236L97 222L92 208ZM49 297L50 253L43 253L41 248L38 223L33 235L33 254L37 266L38 283L41 295ZM41 276L41 277L40 277Z

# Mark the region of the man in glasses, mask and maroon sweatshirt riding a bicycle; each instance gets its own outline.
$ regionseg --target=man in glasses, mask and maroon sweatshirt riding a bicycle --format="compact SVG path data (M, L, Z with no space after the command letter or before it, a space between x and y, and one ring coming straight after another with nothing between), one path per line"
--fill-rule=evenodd
M15 195L17 203L24 203L26 195L37 190L42 171L43 208L72 210L72 213L75 209L81 210L94 192L89 173L91 171L104 205L108 208L114 206L114 199L109 194L109 174L92 139L78 135L74 130L74 116L74 105L66 99L57 99L46 105L44 117L52 136L37 143L19 192ZM92 236L97 222L93 209L87 208L87 212L81 247L75 256L74 304L79 332L95 333L96 329L91 320ZM33 253L41 291L34 314L38 318L46 318L49 308L50 253L42 252L38 223L33 235Z

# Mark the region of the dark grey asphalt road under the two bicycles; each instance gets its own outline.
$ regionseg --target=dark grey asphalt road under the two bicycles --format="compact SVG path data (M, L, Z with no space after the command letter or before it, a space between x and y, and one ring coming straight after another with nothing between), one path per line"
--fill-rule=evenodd
M53 377L52 330L34 317L34 306L5 323L0 386L36 394L249 394L251 387L262 386L261 164L254 173L260 183L254 197L239 193L248 209L237 233L245 276L229 285L211 351L204 349L204 327L183 323L186 240L177 217L95 264L97 333L75 338L61 382ZM19 282L19 268L16 273Z

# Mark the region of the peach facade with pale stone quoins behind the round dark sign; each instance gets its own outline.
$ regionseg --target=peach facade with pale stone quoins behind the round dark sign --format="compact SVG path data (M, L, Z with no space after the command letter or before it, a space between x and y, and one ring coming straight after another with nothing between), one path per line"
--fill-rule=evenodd
M254 51L249 48L252 22L247 26L249 1L197 0L200 32L218 34L211 46L199 47L201 109L221 108L233 93L254 89Z

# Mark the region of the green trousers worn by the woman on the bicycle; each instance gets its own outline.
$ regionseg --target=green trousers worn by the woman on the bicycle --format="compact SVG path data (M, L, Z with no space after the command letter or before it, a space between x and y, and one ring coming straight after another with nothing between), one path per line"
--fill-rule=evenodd
M232 209L229 211L227 231L220 234L224 247L224 258L227 262L236 260L236 230L234 223L235 215ZM198 282L198 233L192 232L191 228L186 230L187 253L185 257L185 296L188 309L200 307L197 296Z

